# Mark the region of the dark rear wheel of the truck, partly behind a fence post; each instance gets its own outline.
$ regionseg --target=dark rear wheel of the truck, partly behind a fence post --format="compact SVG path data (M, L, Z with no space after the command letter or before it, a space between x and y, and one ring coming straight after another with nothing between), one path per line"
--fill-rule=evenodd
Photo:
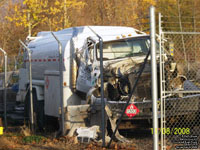
M31 123L31 111L30 111L30 91L28 91L25 98L24 105L24 116L26 123L30 125ZM43 131L44 128L44 101L38 101L36 90L33 89L33 118L34 118L34 128L36 131Z

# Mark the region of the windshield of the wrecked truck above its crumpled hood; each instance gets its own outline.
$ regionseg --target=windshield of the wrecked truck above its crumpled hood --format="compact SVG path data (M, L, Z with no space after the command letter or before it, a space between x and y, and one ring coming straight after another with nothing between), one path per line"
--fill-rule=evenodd
M149 37L121 39L103 43L104 60L145 55L150 47ZM100 58L97 49L97 59Z

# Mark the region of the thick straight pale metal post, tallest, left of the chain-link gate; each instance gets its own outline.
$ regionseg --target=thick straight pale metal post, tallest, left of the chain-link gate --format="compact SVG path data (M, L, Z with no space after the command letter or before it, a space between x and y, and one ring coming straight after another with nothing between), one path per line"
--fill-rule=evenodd
M153 105L153 148L158 150L158 112L157 112L157 63L156 63L156 24L155 8L150 7L150 38L151 38L151 81L152 81L152 105Z

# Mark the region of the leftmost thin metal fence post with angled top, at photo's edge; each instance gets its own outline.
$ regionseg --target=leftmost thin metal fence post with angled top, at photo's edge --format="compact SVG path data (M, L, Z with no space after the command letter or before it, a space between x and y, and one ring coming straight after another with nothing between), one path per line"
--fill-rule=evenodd
M0 48L4 54L4 126L7 129L7 53Z

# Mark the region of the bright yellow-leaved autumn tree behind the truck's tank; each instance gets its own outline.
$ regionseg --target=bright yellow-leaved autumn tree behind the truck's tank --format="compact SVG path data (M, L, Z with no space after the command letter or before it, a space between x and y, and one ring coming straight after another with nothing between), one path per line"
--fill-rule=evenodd
M77 0L24 0L14 6L14 14L6 18L16 26L24 26L36 34L37 28L59 30L71 26L67 17L68 8L81 9L83 2Z

